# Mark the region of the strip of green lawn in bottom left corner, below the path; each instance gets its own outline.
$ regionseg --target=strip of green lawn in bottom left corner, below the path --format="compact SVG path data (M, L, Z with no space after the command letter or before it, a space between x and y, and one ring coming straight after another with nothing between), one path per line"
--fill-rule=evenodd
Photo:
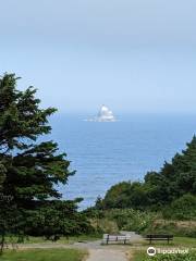
M85 251L75 249L34 249L4 251L1 261L82 261L87 256Z

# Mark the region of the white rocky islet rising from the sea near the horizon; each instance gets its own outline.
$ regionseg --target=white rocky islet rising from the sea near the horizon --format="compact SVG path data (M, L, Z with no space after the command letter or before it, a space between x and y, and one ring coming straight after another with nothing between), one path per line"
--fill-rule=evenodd
M113 112L106 105L101 105L98 115L87 120L89 122L115 122L117 119L113 115Z

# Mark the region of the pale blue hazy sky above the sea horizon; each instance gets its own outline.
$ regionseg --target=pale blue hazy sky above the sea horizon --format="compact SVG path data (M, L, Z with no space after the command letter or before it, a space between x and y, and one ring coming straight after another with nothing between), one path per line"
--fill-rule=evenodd
M61 112L196 112L195 0L1 0L0 74Z

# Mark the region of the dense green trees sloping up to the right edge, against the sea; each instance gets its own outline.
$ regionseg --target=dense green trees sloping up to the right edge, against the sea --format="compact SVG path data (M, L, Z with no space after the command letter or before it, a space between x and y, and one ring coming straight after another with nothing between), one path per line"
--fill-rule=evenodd
M166 206L179 208L180 203L183 208L182 202L191 199L191 202L194 202L192 198L194 196L196 196L195 136L187 144L186 150L181 154L176 153L171 163L166 162L160 172L147 173L143 183L123 182L112 186L106 197L99 199L99 209L133 208L157 211L163 210Z

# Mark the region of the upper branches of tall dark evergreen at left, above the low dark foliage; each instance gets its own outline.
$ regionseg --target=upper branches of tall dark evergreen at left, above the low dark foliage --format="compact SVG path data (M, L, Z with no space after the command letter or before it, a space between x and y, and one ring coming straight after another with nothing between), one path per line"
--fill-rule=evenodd
M60 198L54 184L65 184L70 162L53 141L37 142L50 133L48 116L56 109L40 109L36 89L16 89L17 77L0 78L0 162L3 194L21 206L50 197Z

